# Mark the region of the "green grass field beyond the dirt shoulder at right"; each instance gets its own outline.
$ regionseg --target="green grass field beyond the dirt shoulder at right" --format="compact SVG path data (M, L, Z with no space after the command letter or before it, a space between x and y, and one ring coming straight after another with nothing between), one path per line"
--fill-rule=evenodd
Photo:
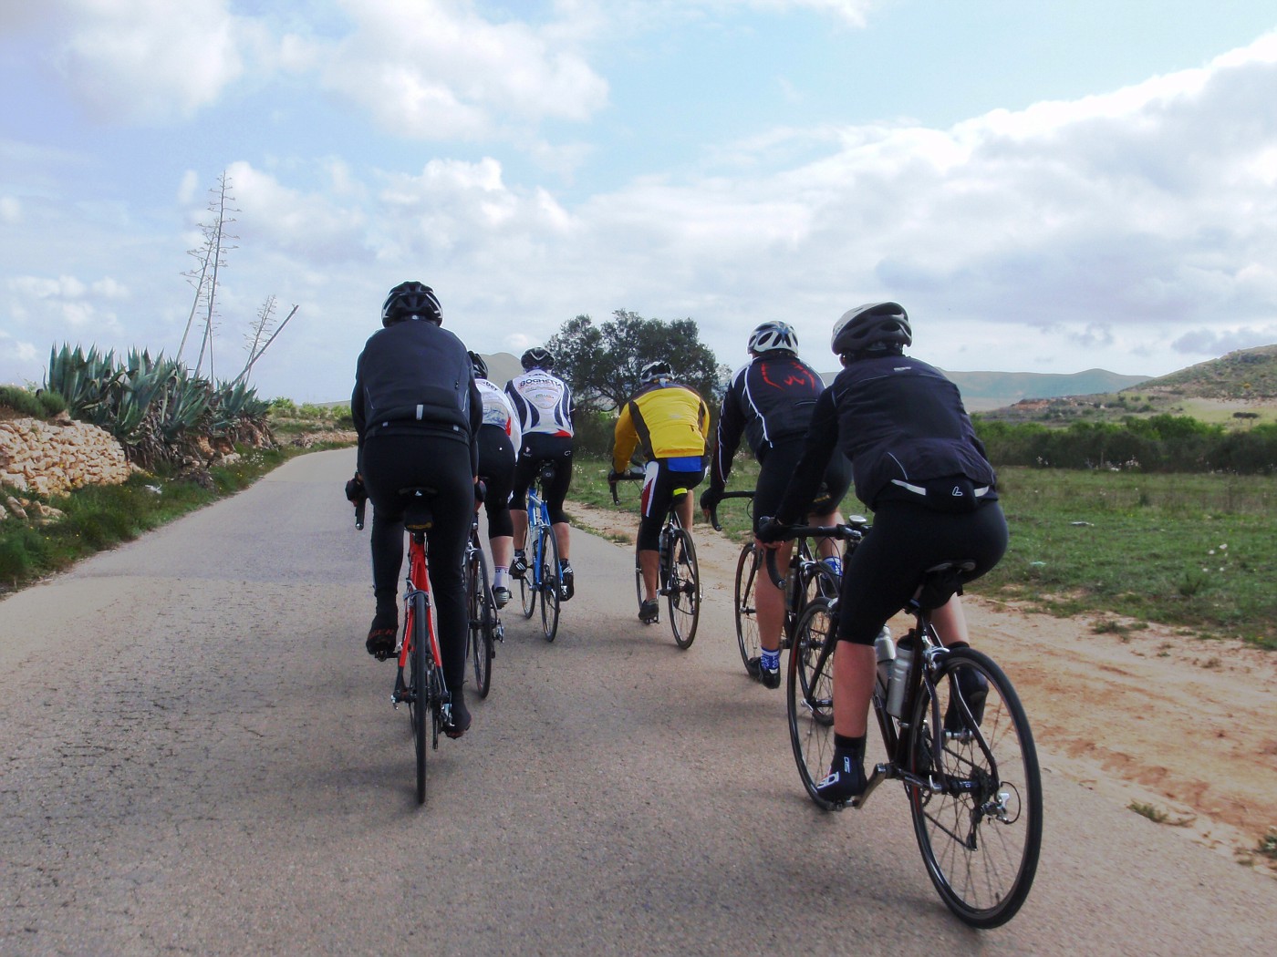
M570 500L612 507L607 472L578 459ZM756 475L738 458L729 487ZM1277 648L1277 478L1004 468L999 481L1010 546L972 593L1060 616L1103 612L1110 630L1161 623ZM626 508L635 493L622 490ZM865 509L849 495L852 512ZM720 519L733 540L748 530L741 504L724 503Z

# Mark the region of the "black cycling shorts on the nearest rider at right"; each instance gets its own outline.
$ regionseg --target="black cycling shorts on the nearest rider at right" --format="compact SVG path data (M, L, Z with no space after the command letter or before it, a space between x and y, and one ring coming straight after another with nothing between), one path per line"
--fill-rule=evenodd
M978 578L1006 551L1006 519L997 501L974 512L933 512L909 501L882 501L873 527L847 559L838 639L872 644L884 623L913 597L922 573L949 559L973 559Z

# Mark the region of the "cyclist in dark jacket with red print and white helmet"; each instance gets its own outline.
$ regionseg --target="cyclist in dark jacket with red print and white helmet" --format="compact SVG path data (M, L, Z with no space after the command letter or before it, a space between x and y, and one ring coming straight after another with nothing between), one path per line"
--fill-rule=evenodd
M701 493L706 516L723 498L732 472L741 436L759 461L759 481L753 493L755 532L762 516L773 516L780 504L789 476L802 456L803 435L811 421L816 398L825 383L810 365L798 357L798 336L788 323L769 322L750 334L750 361L736 370L719 411L714 452L710 456L710 482ZM825 470L825 481L811 504L812 524L842 521L838 504L852 484L850 464L838 456ZM838 547L833 541L820 544L821 553L836 567ZM779 568L789 563L789 545L776 555ZM759 610L759 643L762 655L751 658L746 667L765 688L780 686L780 630L785 620L784 595L767 575L755 579Z

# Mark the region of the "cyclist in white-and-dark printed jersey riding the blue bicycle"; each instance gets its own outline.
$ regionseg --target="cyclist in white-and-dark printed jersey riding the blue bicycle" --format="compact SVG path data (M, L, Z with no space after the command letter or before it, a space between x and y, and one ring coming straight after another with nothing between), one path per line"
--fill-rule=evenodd
M570 560L571 533L563 499L572 484L572 389L552 374L554 356L540 346L524 352L522 375L506 383L524 434L515 466L515 489L510 498L510 518L515 530L515 561L510 573L522 578L527 572L524 545L527 541L527 486L541 462L554 463L554 481L545 489L545 505L559 549L559 597L567 601L576 591L576 575Z

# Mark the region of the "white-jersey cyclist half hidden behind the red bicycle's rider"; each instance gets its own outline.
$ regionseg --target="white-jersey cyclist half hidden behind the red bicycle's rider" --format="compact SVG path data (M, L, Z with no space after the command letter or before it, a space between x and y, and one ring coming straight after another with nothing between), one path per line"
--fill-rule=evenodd
M478 352L470 353L475 387L483 401L479 426L479 476L487 493L488 544L492 547L492 597L497 607L510 601L510 556L515 550L515 528L510 518L510 491L515 486L515 462L522 430L515 408L497 383L488 379L488 364Z

